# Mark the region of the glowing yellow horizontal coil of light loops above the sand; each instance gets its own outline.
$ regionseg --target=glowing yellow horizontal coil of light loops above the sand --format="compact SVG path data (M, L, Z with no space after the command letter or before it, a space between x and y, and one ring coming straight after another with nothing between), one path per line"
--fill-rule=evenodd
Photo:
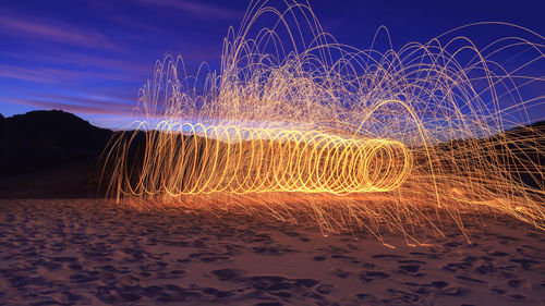
M161 127L137 183L147 194L388 192L413 168L407 146L391 139L233 125Z

